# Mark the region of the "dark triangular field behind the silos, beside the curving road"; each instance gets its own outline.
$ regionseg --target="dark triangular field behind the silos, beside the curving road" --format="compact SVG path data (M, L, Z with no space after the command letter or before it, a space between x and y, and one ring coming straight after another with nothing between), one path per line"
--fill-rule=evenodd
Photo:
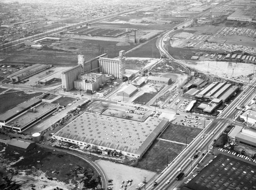
M151 40L150 42L142 45L140 48L135 51L126 53L127 57L137 57L137 58L160 58L159 50L156 46L157 38Z

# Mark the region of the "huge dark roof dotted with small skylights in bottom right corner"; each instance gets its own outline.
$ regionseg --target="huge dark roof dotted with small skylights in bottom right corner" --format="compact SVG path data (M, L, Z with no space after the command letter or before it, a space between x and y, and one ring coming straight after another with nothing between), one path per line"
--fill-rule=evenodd
M254 164L219 154L181 190L254 189L255 173Z

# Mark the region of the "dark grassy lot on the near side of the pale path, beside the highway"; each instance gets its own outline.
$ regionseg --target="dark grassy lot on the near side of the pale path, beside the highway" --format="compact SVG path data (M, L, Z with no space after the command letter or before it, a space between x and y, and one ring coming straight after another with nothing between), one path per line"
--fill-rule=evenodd
M174 160L186 145L164 140L155 140L150 149L139 160L137 167L154 172L161 172Z

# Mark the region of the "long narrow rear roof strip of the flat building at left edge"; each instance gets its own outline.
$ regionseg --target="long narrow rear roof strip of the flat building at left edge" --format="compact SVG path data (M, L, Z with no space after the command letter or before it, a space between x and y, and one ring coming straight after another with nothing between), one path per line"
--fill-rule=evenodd
M16 107L12 108L11 110L7 111L6 113L0 115L0 122L7 122L9 119L13 118L14 116L19 115L22 113L24 110L27 108L30 108L31 106L40 103L42 100L41 99L31 99L29 101L25 101Z

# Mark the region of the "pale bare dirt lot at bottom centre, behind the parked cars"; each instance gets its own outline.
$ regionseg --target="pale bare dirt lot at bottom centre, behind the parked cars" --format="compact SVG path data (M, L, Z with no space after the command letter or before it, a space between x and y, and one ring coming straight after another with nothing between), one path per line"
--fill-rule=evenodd
M153 176L156 175L156 173L147 171L147 170L141 170L134 167L129 167L121 164L116 164L111 161L105 161L105 160L97 160L97 164L104 170L104 173L108 179L113 179L113 190L121 189L119 186L121 185L121 181L132 179L132 185L127 185L127 190L134 190L137 185L144 181L144 177L146 177L146 181L150 180Z

